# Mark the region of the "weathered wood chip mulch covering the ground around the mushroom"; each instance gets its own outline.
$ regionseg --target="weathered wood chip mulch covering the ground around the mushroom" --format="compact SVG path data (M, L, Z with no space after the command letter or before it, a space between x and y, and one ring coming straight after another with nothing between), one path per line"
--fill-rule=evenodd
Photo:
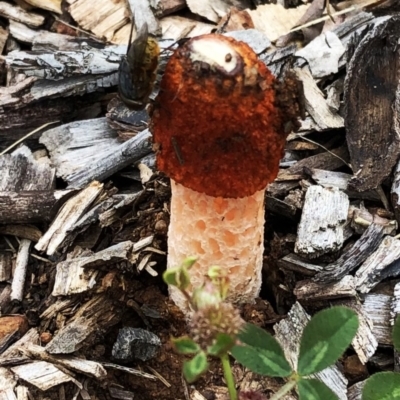
M171 45L212 30L301 82L304 119L267 189L263 287L241 311L294 364L311 315L354 309L351 348L317 378L361 399L372 372L399 368L400 6L129 3L0 0L0 400L226 398L218 363L187 385L170 344L187 327L161 279L169 180L146 111L117 94L131 10L164 49L158 82ZM118 359L125 328L155 355ZM241 389L283 384L233 368Z

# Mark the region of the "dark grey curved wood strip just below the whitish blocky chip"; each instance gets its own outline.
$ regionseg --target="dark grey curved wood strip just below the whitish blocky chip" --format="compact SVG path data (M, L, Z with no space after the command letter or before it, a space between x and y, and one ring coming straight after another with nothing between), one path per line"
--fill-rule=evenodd
M383 239L383 227L370 224L354 245L334 263L323 267L313 279L316 282L336 282L361 265L379 246Z

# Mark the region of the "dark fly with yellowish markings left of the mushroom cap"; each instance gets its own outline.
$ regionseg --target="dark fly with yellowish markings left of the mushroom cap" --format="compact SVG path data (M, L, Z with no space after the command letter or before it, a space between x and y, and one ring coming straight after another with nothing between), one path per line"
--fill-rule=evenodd
M132 42L133 22L126 56L119 66L118 91L121 100L132 110L143 110L156 80L160 48L149 35L147 23Z

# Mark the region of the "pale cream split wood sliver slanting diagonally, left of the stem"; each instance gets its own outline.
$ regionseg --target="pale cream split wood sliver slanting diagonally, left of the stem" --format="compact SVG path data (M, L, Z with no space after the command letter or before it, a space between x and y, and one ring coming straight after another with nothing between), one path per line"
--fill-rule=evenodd
M57 218L36 244L35 249L52 255L65 240L69 229L84 215L103 190L103 184L93 182L69 199L61 208Z

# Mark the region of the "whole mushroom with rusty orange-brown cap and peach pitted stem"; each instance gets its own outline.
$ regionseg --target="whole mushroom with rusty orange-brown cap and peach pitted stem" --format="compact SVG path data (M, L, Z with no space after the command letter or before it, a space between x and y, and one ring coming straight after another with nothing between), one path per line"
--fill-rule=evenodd
M198 287L220 266L236 303L261 287L265 189L287 136L277 97L275 78L247 44L208 34L172 55L152 114L158 169L171 178L167 267L198 256L190 270Z

